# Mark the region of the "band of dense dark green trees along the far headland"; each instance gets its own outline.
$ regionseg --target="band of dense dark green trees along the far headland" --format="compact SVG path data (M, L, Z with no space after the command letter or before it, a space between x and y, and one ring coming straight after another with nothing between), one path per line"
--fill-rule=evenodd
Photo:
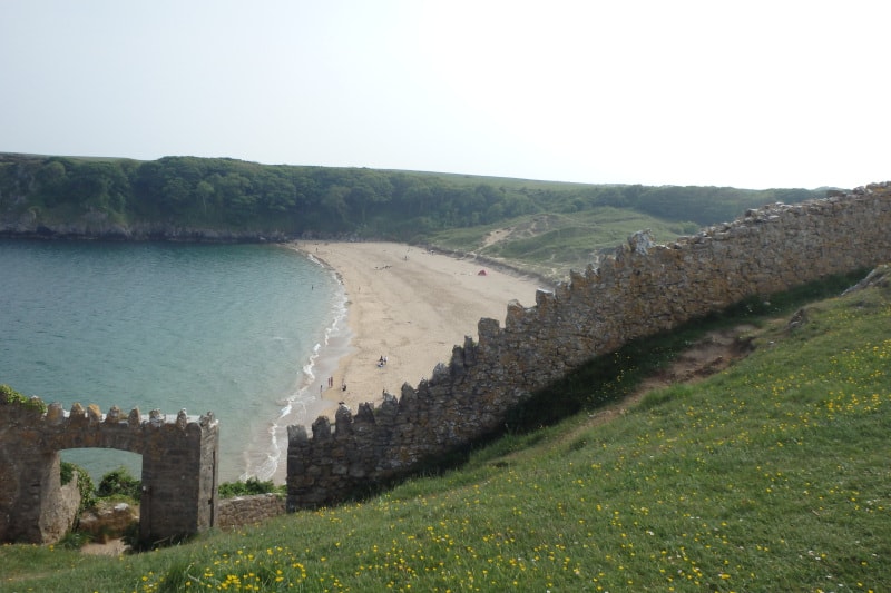
M698 225L803 189L594 186L364 168L258 165L225 158L155 161L0 155L0 217L102 213L120 223L411 240L526 214L631 208Z

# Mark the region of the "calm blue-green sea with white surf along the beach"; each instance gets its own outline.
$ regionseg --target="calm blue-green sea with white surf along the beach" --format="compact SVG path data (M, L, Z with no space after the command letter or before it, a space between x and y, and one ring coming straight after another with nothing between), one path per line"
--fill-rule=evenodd
M59 402L175 417L213 412L219 480L284 482L287 426L349 349L346 299L311 249L0 239L0 384ZM137 454L74 449L97 481Z

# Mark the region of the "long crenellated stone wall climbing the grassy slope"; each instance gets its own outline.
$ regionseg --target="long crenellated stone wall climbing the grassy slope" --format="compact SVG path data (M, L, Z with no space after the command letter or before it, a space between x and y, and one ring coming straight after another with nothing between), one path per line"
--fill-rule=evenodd
M481 319L429 380L312 435L288 427L287 507L327 505L405 475L503 426L507 412L597 355L758 295L891 259L891 185L750 210L668 245L646 233L598 269L572 273L536 305ZM370 397L373 394L370 394Z

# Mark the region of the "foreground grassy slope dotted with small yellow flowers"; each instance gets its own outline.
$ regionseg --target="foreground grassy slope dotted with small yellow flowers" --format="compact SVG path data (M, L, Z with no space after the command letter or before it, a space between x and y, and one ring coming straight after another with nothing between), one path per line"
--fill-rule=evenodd
M0 591L889 591L889 280L776 307L699 383L157 552L3 546Z

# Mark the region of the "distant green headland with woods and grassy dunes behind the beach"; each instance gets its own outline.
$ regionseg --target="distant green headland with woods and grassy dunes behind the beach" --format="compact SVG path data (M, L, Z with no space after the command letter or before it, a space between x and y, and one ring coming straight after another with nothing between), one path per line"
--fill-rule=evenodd
M507 246L478 241L478 247L506 259L529 254L558 269L567 263L542 248L547 240L555 236L558 247L570 249L567 257L581 260L584 267L598 246L615 247L609 231L618 217L640 220L621 226L620 240L647 227L675 236L681 233L668 227L696 229L731 220L747 208L824 195L794 188L567 184L227 158L136 161L0 152L4 235L425 244L443 231L443 241L470 251L472 245L458 237L486 227L513 230L517 240L511 238ZM589 231L595 233L594 241L584 238ZM502 247L507 253L499 253ZM556 253L562 255L562 249Z

